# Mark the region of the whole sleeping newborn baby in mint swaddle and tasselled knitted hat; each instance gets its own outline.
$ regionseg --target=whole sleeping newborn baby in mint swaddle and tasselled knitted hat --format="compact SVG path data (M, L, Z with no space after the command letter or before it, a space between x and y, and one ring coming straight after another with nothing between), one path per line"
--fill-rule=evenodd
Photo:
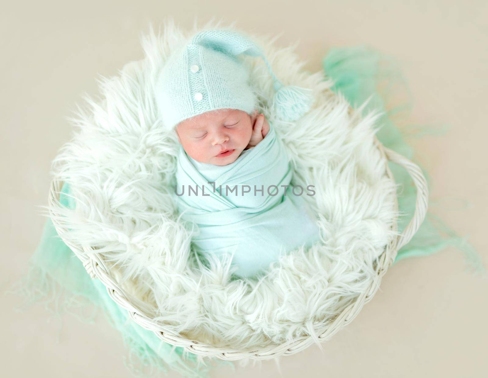
M296 121L309 110L311 90L284 86L262 49L230 30L199 32L172 51L154 89L162 125L180 142L175 201L197 226L192 245L207 262L232 256L234 273L251 277L320 236L305 201L313 185L290 186L289 157L256 112L256 83L239 55L264 59L271 74L264 87L276 91L264 101L276 119Z

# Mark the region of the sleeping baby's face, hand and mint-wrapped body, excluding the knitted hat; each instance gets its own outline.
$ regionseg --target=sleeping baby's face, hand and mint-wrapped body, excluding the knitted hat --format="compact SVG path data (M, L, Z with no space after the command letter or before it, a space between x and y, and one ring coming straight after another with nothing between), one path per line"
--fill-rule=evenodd
M176 132L178 209L199 227L192 242L200 256L230 253L234 274L252 277L281 254L320 240L301 197L310 192L292 190L285 149L263 114L206 112Z

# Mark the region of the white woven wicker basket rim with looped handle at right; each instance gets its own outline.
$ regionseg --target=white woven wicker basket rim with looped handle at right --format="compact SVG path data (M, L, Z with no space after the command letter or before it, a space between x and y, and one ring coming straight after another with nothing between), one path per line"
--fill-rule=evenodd
M428 199L428 190L427 190L427 181L422 174L420 168L409 161L404 156L387 149L384 147L378 139L375 137L375 143L378 149L380 150L382 156L384 157L385 161L385 174L391 178L392 180L393 175L388 167L388 160L403 166L410 176L413 179L413 182L417 188L417 200L416 200L416 208L413 214L413 218L398 238L394 239L390 245L388 245L383 253L379 258L379 264L376 266L376 273L373 282L369 286L368 290L358 296L357 300L353 303L350 303L342 313L335 318L334 321L329 323L323 329L316 329L316 334L318 335L321 341L329 339L333 334L339 331L343 326L347 323L352 321L356 315L359 313L361 308L364 306L366 302L369 302L371 298L376 293L376 290L379 287L381 279L383 275L386 273L386 270L389 266L393 263L398 250L406 245L415 232L420 227L421 223L423 222L425 215L427 213L427 199ZM54 179L51 185L51 189L49 191L49 205L51 209L50 214L52 217L52 221L58 234L60 235L61 239L63 239L63 234L66 230L61 227L60 223L56 221L56 219L60 216L59 213L56 213L56 208L60 208L59 203L59 193L61 191L63 182L57 179ZM396 201L395 201L396 202ZM398 209L398 203L395 204L396 210ZM394 230L396 231L397 225L394 225ZM92 278L98 278L107 288L108 294L110 297L122 308L126 309L130 315L130 317L143 328L153 331L160 339L164 340L165 342L183 347L190 351L191 353L203 356L216 356L220 359L225 360L239 360L239 359L272 359L274 357L278 357L281 355L290 355L297 353L309 345L314 343L312 337L301 337L295 340L292 340L288 343L281 344L281 345L273 345L268 346L266 348L259 348L256 350L236 350L236 349L227 349L227 348L217 348L212 345L208 345L198 340L189 340L181 335L175 334L173 332L168 331L165 329L164 324L154 321L147 315L143 313L143 311L134 303L131 303L129 295L127 295L122 287L118 285L116 280L110 274L107 265L104 264L102 260L102 256L96 252L92 251L85 251L84 247L82 246L74 246L69 242L63 241L73 250L75 255L81 260L83 266L85 267L86 271L90 274ZM89 253L87 253L89 252Z

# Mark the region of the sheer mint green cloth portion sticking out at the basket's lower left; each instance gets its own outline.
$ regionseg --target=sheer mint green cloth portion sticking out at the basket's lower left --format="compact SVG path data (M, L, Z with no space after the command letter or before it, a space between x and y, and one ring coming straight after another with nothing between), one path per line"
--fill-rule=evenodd
M61 189L60 203L69 208L75 207L68 183ZM129 350L128 356L123 357L123 363L134 376L149 376L161 370L164 373L176 371L183 377L208 377L212 367L228 365L234 368L230 361L217 358L207 359L205 366L195 354L160 340L153 332L130 319L127 311L109 297L103 283L90 278L81 261L58 236L49 218L44 225L41 241L29 261L28 274L16 286L15 291L27 299L24 308L42 302L60 322L60 326L63 312L89 323L93 323L96 315L102 313L110 325L121 333Z

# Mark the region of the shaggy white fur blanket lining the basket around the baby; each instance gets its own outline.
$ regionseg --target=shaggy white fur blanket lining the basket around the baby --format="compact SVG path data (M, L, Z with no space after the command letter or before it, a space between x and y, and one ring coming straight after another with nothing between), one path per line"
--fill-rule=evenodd
M234 349L317 336L371 284L375 259L396 232L396 184L374 145L379 114L361 116L335 95L322 71L302 72L292 48L248 34L264 48L285 85L312 88L312 110L297 122L274 119L266 101L272 79L262 59L243 57L257 84L260 109L276 126L290 156L293 185L315 185L307 196L320 219L322 243L282 257L259 282L230 280L229 262L198 264L191 230L171 200L178 140L162 127L154 84L166 58L209 23L183 31L169 21L143 38L141 61L103 79L99 101L87 99L73 120L73 139L53 162L76 200L64 211L63 235L97 249L120 286L151 318L192 340ZM233 28L233 27L232 27ZM245 31L241 31L244 32Z

